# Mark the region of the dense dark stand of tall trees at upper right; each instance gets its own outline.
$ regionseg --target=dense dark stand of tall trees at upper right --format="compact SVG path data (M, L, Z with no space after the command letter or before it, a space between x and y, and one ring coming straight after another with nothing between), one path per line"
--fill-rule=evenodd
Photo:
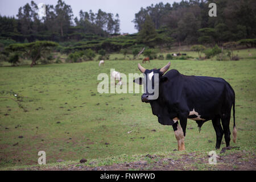
M208 5L216 3L217 17L209 17ZM162 2L135 14L135 28L143 31L149 15L156 30L166 27L169 36L187 44L221 44L256 38L256 1L254 0L189 0Z

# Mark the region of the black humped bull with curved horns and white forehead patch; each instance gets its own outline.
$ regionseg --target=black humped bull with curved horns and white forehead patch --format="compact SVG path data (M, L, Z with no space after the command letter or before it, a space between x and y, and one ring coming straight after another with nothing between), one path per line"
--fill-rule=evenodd
M187 119L196 121L199 129L204 122L212 120L216 131L216 148L220 148L223 135L225 135L225 142L228 147L232 106L233 142L236 142L235 93L230 84L223 78L186 76L175 69L171 69L163 75L170 68L170 65L171 63L168 63L161 69L148 70L138 64L139 70L145 74L145 77L137 78L134 82L142 84L142 80L146 79L144 82L147 83L148 75L159 74L159 97L156 100L148 99L152 93L148 93L146 89L146 93L142 95L142 102L150 103L152 113L158 117L160 124L172 125L178 142L178 149L185 150L184 137ZM152 88L154 88L154 76L150 79L152 80Z

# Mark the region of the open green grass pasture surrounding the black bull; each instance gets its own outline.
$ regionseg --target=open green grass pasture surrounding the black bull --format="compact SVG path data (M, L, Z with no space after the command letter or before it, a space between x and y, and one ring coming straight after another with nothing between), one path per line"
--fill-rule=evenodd
M231 145L255 152L256 59L248 56L247 49L237 54L244 59L174 60L170 69L228 81L236 92L237 143ZM121 155L130 158L176 149L172 127L158 123L150 105L141 102L141 94L97 93L99 73L110 76L110 68L127 75L139 73L137 64L141 62L106 61L102 67L98 67L98 61L0 67L0 90L13 90L27 97L22 104L28 110L24 112L14 101L0 98L0 168L38 164L38 151L46 151L50 164L58 159L115 160ZM152 60L143 67L160 68L167 63ZM205 123L200 133L195 121L188 120L187 128L192 129L186 133L186 152L214 150L212 122Z

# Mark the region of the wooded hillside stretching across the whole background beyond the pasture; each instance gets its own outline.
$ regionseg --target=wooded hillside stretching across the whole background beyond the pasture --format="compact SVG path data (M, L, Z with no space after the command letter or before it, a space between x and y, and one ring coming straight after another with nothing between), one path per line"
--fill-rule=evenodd
M209 3L212 2L217 5L216 17L208 15ZM160 2L141 7L134 15L137 34L121 35L122 22L118 14L101 9L97 13L80 10L79 17L74 17L71 6L59 0L56 6L46 5L46 16L40 18L38 5L31 1L20 7L16 16L0 15L0 51L4 55L1 57L6 59L13 50L9 47L11 44L38 42L36 45L45 45L40 41L58 43L52 48L60 53L88 49L90 55L102 50L110 53L129 49L128 52L135 56L143 47L170 49L174 44L254 47L255 12L254 0L189 0L172 5ZM89 57L91 60L92 56Z

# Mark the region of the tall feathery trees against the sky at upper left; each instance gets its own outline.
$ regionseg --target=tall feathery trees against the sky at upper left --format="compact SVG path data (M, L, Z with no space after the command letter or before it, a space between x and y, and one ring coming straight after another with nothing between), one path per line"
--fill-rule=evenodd
M41 18L38 5L34 1L20 7L18 19L0 16L0 36L16 42L34 42L35 40L51 40L63 42L67 40L92 40L93 36L107 36L119 32L119 16L98 10L96 14L79 13L79 18L73 19L70 5L57 1L56 6L46 5L46 16ZM73 24L73 20L75 24Z

